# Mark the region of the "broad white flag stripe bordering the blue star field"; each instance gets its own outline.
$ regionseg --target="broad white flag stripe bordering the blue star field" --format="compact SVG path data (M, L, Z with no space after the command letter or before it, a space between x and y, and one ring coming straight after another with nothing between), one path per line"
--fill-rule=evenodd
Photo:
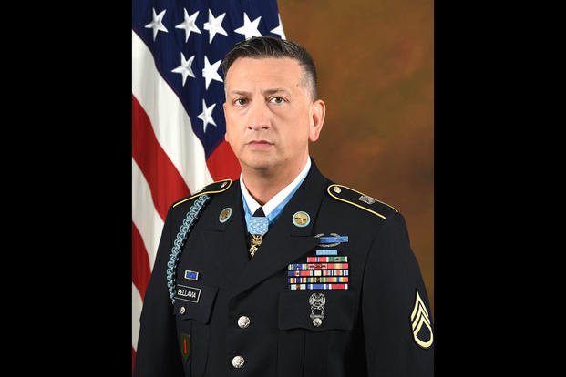
M148 113L161 148L179 170L190 192L212 182L201 140L179 98L160 76L153 56L132 30L132 94Z

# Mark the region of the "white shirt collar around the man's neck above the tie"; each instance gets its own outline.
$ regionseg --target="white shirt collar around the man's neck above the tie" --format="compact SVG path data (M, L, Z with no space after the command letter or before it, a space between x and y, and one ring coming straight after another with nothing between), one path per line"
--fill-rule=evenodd
M252 198L252 195L250 195L250 192L245 187L242 173L240 173L240 189L242 189L244 215L251 216L252 213L262 207L263 213L265 213L265 216L270 220L270 223L273 222L277 218L277 215L281 213L284 205L287 204L289 199L293 197L294 192L299 188L299 186L301 186L301 183L303 183L303 180L308 174L310 168L311 157L309 156L306 159L303 170L301 170L299 175L293 179L293 182L291 182L284 189L275 194L275 196L263 206L260 206L260 204Z

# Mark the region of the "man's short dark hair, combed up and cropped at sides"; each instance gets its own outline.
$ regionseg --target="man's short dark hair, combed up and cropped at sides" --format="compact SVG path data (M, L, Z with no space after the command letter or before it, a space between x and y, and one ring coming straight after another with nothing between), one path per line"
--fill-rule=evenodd
M252 57L260 59L264 57L290 57L299 62L304 70L305 85L310 86L312 99L317 98L316 93L316 68L313 57L304 49L292 41L274 38L273 36L254 36L250 39L237 43L232 50L222 59L221 67L224 76L232 63L239 57Z

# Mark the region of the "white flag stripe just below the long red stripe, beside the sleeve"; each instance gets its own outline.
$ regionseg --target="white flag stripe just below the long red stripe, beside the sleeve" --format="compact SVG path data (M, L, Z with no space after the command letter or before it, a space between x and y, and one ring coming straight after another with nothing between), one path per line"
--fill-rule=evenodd
M148 251L149 268L153 270L164 221L155 209L148 181L134 158L131 159L131 180L131 218Z

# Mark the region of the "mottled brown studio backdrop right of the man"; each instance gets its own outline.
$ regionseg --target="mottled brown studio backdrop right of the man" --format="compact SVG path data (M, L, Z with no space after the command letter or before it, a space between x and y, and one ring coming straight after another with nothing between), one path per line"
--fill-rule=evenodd
M279 0L279 11L327 107L316 164L405 216L434 311L433 0Z

